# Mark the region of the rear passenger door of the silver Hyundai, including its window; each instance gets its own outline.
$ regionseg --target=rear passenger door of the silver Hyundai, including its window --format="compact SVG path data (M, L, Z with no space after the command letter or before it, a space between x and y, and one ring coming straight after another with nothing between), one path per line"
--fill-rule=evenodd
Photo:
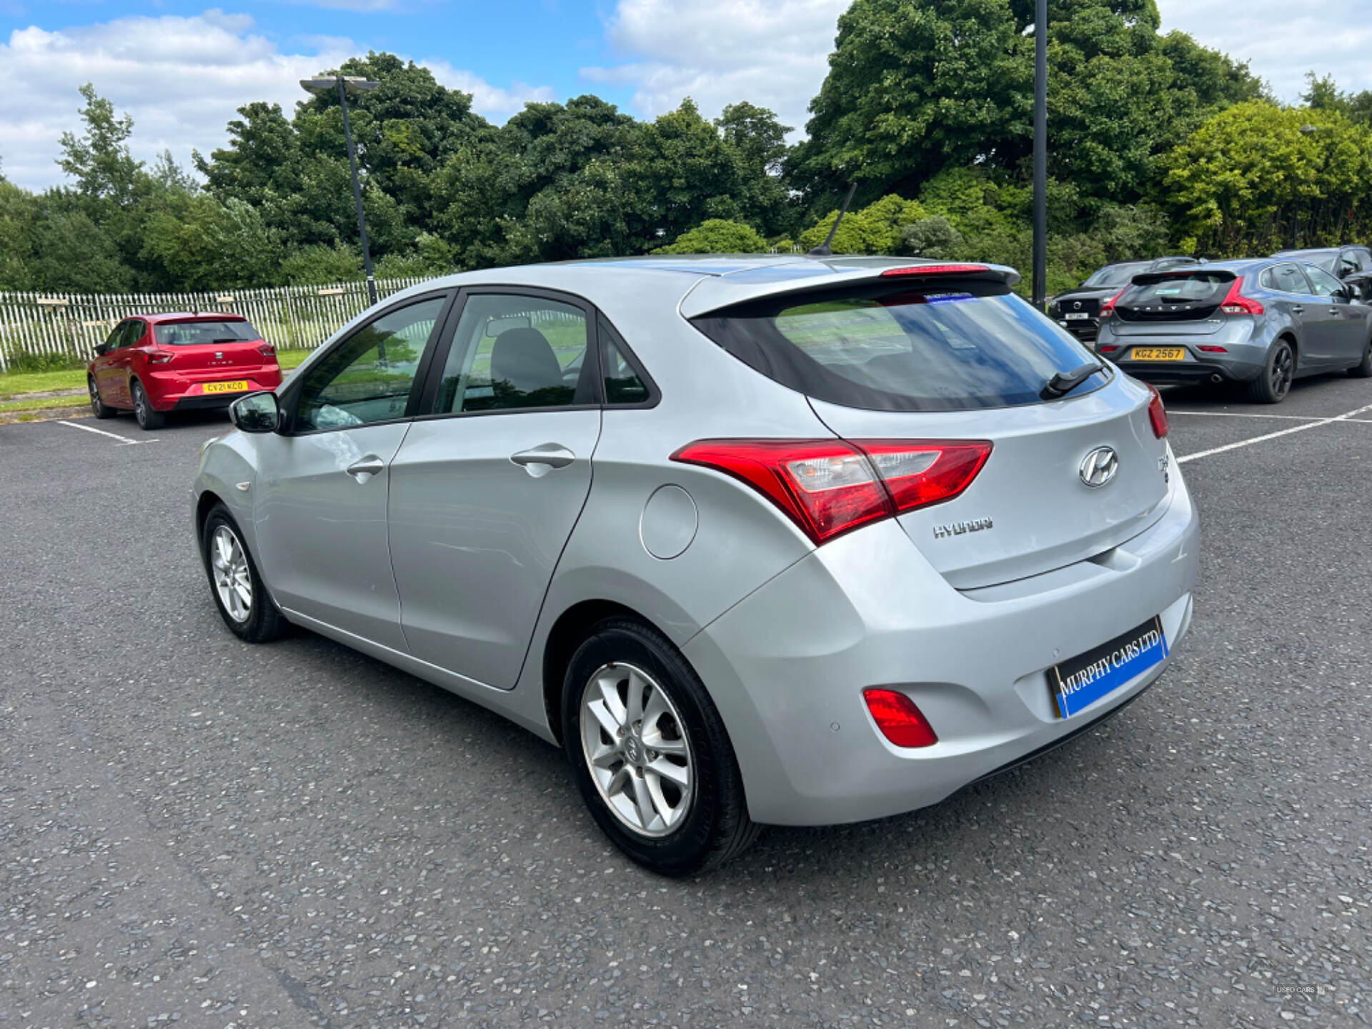
M487 686L514 686L590 493L601 427L591 316L563 294L464 292L391 462L410 652Z

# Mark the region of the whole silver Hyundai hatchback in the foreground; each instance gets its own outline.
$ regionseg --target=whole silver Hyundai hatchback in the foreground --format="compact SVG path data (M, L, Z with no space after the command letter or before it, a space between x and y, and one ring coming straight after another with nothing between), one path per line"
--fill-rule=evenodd
M294 623L560 744L665 874L933 804L1135 700L1191 620L1151 387L985 265L439 279L210 442L228 627Z

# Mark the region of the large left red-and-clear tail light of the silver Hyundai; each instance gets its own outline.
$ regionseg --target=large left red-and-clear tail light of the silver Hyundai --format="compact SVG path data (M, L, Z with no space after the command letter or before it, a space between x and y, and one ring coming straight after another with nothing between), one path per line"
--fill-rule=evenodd
M989 456L986 440L701 439L672 460L748 483L818 546L870 521L952 499Z

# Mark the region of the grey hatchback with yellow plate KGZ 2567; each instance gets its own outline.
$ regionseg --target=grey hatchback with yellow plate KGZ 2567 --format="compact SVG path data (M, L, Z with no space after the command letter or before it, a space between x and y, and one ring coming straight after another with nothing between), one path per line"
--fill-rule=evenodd
M1100 309L1096 353L1147 383L1242 383L1280 403L1295 379L1372 376L1372 307L1291 259L1137 274Z

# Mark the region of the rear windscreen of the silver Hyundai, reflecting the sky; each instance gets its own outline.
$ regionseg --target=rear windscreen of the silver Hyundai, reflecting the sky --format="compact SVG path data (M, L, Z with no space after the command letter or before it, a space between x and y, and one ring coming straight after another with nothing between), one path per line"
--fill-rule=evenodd
M807 397L866 410L1039 403L1093 358L1000 281L853 285L788 294L691 320L745 364ZM1104 370L1073 394L1104 384Z

